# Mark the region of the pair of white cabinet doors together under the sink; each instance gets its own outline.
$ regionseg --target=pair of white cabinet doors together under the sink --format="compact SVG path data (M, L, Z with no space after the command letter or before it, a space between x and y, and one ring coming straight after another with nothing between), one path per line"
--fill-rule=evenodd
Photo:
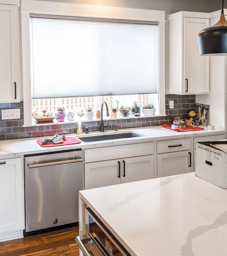
M138 156L84 165L85 189L151 179L154 156Z

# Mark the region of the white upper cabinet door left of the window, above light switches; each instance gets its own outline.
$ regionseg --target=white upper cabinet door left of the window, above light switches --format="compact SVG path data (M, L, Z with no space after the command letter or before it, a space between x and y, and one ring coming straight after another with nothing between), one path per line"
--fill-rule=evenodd
M1 2L1 1L0 1ZM0 4L0 102L20 101L18 6Z

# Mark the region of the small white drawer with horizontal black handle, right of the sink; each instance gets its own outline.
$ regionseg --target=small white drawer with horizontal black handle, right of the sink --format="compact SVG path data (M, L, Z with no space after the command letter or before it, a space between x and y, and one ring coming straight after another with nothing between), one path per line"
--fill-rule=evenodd
M177 152L191 149L191 139L158 141L157 153Z

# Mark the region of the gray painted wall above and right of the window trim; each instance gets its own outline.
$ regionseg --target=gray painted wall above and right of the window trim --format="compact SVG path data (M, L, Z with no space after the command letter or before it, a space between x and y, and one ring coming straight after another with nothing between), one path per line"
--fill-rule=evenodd
M165 11L165 81L166 94L169 93L169 22L168 15L179 11L213 12L221 9L221 0L40 0L87 5L104 5L137 9Z

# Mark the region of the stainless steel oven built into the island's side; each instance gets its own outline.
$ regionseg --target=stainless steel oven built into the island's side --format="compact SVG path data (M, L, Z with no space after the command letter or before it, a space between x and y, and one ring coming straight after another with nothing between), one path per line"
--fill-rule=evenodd
M85 256L131 255L90 208L85 209L85 224L86 235L76 237Z

